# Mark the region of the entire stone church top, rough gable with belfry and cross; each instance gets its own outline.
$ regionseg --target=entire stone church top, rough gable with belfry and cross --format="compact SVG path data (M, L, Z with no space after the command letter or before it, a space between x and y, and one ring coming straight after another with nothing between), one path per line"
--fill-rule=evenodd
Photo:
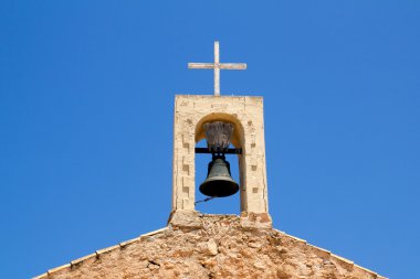
M167 226L96 250L35 279L384 278L351 260L272 228L263 100L220 96L220 69L244 69L246 65L220 63L216 42L214 63L190 63L189 67L214 71L214 96L176 96L172 210ZM208 148L196 148L203 138ZM228 194L239 192L240 216L196 211L197 152L212 153L209 169L217 169L216 174L209 171L209 184L201 184L200 190L210 195L209 198L227 195L224 186L230 187ZM239 185L228 175L224 154L229 153L237 154L239 160ZM203 191L203 185L211 185L210 192Z

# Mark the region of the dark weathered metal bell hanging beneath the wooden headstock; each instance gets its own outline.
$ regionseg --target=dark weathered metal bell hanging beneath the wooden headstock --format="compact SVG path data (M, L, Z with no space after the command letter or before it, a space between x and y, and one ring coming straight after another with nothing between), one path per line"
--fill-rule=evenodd
M224 160L224 155L213 155L207 179L200 185L200 192L212 197L223 197L235 194L238 190L239 185L231 178L230 164Z

